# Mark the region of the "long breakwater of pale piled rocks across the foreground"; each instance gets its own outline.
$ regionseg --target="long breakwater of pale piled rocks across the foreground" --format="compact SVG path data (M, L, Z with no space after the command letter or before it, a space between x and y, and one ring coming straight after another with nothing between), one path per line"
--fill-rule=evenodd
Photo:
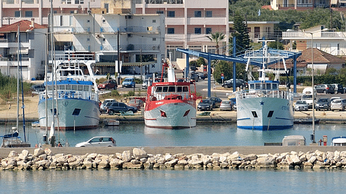
M11 151L8 157L1 159L1 170L37 170L37 169L221 169L221 168L346 168L346 151L307 153L250 154L213 153L212 155L183 153L171 155L152 155L142 148L123 151L113 155L88 153L85 155L53 155L49 148L35 149L33 154L23 150Z

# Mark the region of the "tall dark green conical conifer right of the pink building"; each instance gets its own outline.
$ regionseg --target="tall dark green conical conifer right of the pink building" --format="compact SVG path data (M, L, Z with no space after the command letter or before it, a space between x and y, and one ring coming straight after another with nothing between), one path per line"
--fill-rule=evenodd
M243 54L245 50L250 48L250 37L248 35L248 27L239 13L235 15L233 28L234 32L231 34L230 42L233 43L233 37L235 37L237 55Z

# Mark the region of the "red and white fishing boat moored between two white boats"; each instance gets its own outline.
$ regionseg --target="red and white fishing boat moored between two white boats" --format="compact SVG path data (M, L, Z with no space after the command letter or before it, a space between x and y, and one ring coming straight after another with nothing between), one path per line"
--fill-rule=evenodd
M172 64L165 63L163 68L165 67L168 67L168 81L154 82L152 86L148 86L144 112L145 126L151 128L196 126L196 91L191 92L190 81L176 81Z

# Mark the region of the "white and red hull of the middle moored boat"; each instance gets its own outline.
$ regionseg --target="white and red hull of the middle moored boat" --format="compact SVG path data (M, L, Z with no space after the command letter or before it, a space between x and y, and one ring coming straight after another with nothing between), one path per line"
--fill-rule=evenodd
M152 110L145 110L145 126L151 128L190 128L196 126L197 110L183 101L152 101L162 104ZM165 113L165 115L163 115ZM186 114L187 113L187 114Z

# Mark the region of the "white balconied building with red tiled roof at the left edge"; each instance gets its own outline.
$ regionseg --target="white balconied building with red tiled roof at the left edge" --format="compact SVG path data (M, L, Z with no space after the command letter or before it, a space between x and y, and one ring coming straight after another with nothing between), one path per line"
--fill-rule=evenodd
M31 30L39 33L30 33ZM42 78L47 53L47 30L45 26L28 20L18 21L0 28L1 73L17 77L17 67L21 66L24 80ZM18 60L18 50L21 54L20 61Z

